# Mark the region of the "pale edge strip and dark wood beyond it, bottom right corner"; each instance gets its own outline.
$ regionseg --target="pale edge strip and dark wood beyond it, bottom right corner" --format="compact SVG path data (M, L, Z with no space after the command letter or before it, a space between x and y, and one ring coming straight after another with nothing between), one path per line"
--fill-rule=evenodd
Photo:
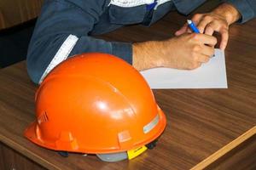
M243 147L243 148L241 148ZM241 152L241 153L240 153ZM234 154L235 153L235 154ZM235 155L235 156L233 156ZM245 156L244 156L245 155ZM206 167L210 169L211 167L225 167L224 169L234 169L227 168L230 167L240 167L241 169L253 169L251 167L256 167L253 164L253 159L247 160L247 158L256 156L256 126L249 129L246 133L241 134L235 140L232 140L230 144L226 144L220 150L208 156L207 159L198 163L191 170L205 169ZM233 158L235 157L235 158ZM247 161L243 161L246 159ZM250 162L252 161L252 162ZM245 166L247 165L247 166Z

